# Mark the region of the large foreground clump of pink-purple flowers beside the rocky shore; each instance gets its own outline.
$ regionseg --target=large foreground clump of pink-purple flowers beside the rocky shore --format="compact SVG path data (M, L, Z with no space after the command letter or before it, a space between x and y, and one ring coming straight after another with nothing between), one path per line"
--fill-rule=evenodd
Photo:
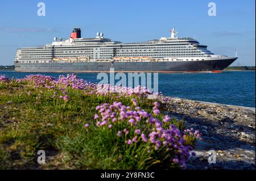
M150 113L137 107L137 100L132 99L133 107L125 106L121 102L104 103L96 107L98 113L94 115L97 127L115 131L115 136L127 145L146 144L148 153L165 153L170 156L172 163L185 167L189 159L191 145L185 145L183 138L187 132L181 132L170 123L168 115L159 120ZM154 103L153 115L159 115L160 104ZM198 132L197 132L198 133Z

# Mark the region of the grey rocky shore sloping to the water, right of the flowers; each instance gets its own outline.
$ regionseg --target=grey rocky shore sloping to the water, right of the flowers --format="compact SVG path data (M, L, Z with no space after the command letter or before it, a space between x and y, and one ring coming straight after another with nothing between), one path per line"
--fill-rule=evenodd
M167 96L160 101L172 117L202 134L188 169L255 169L255 108ZM209 150L216 151L216 163L208 163Z

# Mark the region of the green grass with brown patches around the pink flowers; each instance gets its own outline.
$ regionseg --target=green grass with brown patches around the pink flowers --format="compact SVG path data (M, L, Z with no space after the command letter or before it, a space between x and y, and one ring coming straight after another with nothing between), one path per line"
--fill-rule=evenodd
M0 82L0 169L148 169L171 168L151 158L147 145L121 144L109 130L93 125L95 107L131 98L98 96L67 89L69 102L52 98L54 90L23 82ZM61 95L61 92L57 92ZM154 100L139 98L138 106L151 112ZM182 121L172 120L180 129ZM115 133L114 133L115 134ZM38 164L37 151L46 151ZM164 165L164 166L163 166Z

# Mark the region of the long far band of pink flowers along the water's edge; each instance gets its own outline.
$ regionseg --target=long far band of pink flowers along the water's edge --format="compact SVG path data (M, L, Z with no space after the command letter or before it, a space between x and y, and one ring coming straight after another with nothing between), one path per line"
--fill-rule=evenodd
M137 95L146 97L148 94L158 96L159 93L151 93L146 87L137 86L122 87L122 86L110 86L109 84L98 85L97 83L87 82L83 79L78 78L75 74L67 74L67 77L60 75L59 78L54 78L48 75L36 74L27 75L25 78L17 79L18 82L27 81L34 84L34 87L46 87L47 89L60 90L64 95L60 95L59 98L65 98L68 100L67 92L65 89L71 88L76 90L82 90L85 94L96 94L96 95L112 95L118 94L119 96L132 96ZM52 95L55 98L56 95Z

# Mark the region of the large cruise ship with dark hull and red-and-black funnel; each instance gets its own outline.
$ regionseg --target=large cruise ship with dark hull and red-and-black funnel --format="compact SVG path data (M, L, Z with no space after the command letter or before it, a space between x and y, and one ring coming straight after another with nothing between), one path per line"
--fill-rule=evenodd
M143 43L122 43L97 32L94 38L82 38L74 28L68 39L54 37L51 44L18 48L16 71L73 72L221 72L238 57L216 55L191 37L171 37ZM112 69L113 70L113 69Z

